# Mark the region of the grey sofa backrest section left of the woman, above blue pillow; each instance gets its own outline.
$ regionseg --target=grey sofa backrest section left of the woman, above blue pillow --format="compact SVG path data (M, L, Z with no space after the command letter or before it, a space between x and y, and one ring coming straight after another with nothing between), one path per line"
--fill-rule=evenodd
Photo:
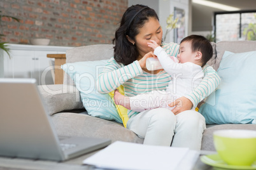
M76 47L66 51L66 63L108 60L114 56L113 52L113 44ZM66 73L64 73L63 84L73 84L73 80Z

